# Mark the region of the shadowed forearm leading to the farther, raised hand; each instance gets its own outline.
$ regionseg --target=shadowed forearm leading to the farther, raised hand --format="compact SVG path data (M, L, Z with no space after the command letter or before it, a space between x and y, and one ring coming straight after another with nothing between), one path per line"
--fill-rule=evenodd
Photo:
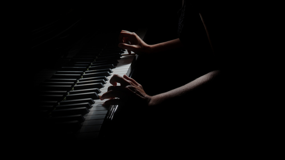
M167 42L149 45L148 47L149 47L149 53L157 53L157 52L172 50L175 48L180 48L182 47L182 43L180 42L179 38L177 38Z

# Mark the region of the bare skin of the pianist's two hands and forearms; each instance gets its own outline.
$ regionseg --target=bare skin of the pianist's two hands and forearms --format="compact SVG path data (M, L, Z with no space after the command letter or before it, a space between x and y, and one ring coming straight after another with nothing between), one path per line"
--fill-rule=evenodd
M126 30L121 31L119 40L120 43L118 46L128 50L129 54L133 51L138 55L151 55L156 52L182 47L179 38L168 42L148 45L141 40L137 34ZM104 93L100 99L110 99L105 102L105 105L121 105L136 102L136 104L142 104L148 107L173 103L177 100L188 101L188 99L185 99L186 96L195 97L201 95L201 93L209 93L213 86L216 85L216 80L219 79L220 74L219 70L211 71L184 86L155 96L147 95L143 87L134 79L127 77L127 75L123 77L113 75L110 79L110 83L113 86L110 86L108 91ZM120 85L117 86L117 83L120 83ZM119 99L114 99L114 97L118 97Z

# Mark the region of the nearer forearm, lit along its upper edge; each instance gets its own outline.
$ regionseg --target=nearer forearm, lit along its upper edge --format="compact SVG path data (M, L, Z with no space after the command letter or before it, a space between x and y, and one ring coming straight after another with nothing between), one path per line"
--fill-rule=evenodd
M220 74L218 70L211 71L182 87L152 96L149 106L172 104L181 101L187 102L192 98L195 100L195 98L203 96L204 93L212 94L212 89L217 85L216 80L220 77Z

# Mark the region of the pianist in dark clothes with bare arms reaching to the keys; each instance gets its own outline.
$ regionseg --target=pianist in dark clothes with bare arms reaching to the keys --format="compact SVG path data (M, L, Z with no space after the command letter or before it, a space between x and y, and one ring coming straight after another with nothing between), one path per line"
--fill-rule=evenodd
M120 77L114 75L110 79L110 83L113 86L109 87L108 92L101 96L101 100L111 98L105 102L106 105L133 104L131 102L133 101L135 104L158 106L178 102L180 104L195 104L196 102L205 102L206 99L207 102L215 100L217 89L221 83L221 71L220 67L216 65L217 63L215 63L217 58L213 54L211 41L209 41L206 29L208 26L206 27L205 25L207 23L205 23L202 18L202 15L207 17L209 12L205 11L207 8L197 7L199 4L188 3L188 1L184 1L182 9L178 13L180 14L180 19L177 39L148 45L139 38L137 34L122 30L119 35L120 43L118 46L128 50L129 54L133 51L140 56L169 53L167 51L176 48L191 48L192 52L189 51L190 53L181 56L181 58L192 59L192 61L190 61L192 73L188 76L191 77L195 75L196 77L189 78L189 81L180 87L176 87L165 93L150 96L146 94L143 86L134 79L127 76ZM186 9L188 9L188 11ZM197 23L190 23L189 21ZM170 55L164 56L170 57ZM176 68L179 67L180 66L177 66ZM175 68L173 68L173 70L175 70ZM185 77L185 79L187 80L188 78ZM121 86L116 86L117 83L120 83ZM119 99L112 99L112 97L118 97Z

